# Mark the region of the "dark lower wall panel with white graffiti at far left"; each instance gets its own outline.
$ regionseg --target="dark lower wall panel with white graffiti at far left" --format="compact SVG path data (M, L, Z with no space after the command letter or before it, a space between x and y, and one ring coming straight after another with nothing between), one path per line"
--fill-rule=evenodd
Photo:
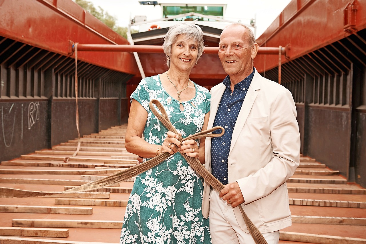
M47 101L0 102L0 162L48 147Z

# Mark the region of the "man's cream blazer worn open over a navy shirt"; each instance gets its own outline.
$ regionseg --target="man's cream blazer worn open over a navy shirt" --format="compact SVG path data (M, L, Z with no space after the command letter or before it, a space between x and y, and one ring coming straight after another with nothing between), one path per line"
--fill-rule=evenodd
M208 128L211 128L224 93L214 86ZM206 138L205 167L211 172L211 138ZM262 77L257 70L249 86L232 134L229 183L237 181L243 193L242 207L262 233L291 225L286 180L299 166L300 134L291 92ZM209 215L210 185L204 183L202 213ZM236 220L249 233L238 207ZM214 224L214 223L210 223Z

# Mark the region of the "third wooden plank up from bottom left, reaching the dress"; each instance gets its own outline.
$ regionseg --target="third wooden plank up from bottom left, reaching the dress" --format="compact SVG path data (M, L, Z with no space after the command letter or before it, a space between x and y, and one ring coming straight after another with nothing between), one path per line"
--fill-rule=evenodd
M123 221L75 219L12 219L13 227L122 229Z

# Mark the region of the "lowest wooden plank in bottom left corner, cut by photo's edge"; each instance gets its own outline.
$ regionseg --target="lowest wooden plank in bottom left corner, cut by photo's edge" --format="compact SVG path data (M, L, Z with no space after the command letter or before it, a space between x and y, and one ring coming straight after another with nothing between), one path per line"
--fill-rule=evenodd
M90 242L90 241L63 241L50 239L35 239L35 238L19 238L0 236L0 244L116 244L107 242Z

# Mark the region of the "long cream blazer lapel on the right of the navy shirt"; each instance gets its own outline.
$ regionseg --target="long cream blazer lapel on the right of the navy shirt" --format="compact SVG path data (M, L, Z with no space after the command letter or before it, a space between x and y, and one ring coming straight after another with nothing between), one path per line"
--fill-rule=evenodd
M250 110L253 107L255 98L258 95L257 90L261 89L260 80L261 80L261 75L258 73L257 70L255 70L253 80L250 83L248 92L243 101L242 108L240 109L238 119L236 120L236 123L235 123L235 127L234 127L234 130L232 133L232 138L231 138L230 152L231 152L232 148L234 147L236 140L238 140L240 131L242 130L245 122L247 121Z

